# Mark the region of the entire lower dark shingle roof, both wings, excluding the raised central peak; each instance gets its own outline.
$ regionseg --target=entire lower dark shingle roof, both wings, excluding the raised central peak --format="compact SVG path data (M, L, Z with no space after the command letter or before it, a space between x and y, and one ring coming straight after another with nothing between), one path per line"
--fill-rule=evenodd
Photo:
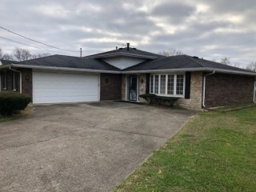
M54 66L64 67L70 69L81 70L105 70L105 71L141 71L141 70L233 70L239 72L252 73L250 70L244 70L234 66L226 66L218 62L208 61L202 58L195 58L188 55L178 55L171 57L159 57L154 60L147 60L146 62L138 63L135 66L130 66L124 70L120 70L115 66L111 66L107 62L103 62L97 58L78 58L64 55L52 55L45 58L36 58L24 62L14 62L8 60L1 60L2 66L8 64L26 65L30 66ZM255 73L256 74L256 73Z

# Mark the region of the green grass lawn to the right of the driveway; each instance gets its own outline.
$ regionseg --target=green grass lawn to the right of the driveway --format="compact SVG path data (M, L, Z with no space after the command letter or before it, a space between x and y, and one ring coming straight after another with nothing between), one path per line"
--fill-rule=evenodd
M256 107L198 114L116 191L256 191Z

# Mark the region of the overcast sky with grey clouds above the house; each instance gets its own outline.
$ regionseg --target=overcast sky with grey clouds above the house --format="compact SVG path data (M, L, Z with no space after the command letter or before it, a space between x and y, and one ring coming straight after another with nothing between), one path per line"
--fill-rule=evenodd
M0 26L83 55L132 47L158 53L176 48L200 58L256 62L255 0L0 0ZM0 37L54 50L0 29ZM0 38L15 46L46 52ZM79 55L60 51L50 54Z

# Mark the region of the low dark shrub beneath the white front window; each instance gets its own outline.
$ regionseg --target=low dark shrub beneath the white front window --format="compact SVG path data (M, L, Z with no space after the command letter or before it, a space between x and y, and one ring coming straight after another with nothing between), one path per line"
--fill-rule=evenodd
M159 106L174 106L174 102L178 100L178 98L158 96L155 94L141 94L139 97L144 98L150 104Z

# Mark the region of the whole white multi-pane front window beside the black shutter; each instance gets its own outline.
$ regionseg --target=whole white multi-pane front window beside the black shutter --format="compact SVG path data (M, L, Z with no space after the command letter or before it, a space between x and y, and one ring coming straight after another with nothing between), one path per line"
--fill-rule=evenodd
M150 94L184 97L185 74L151 74Z

